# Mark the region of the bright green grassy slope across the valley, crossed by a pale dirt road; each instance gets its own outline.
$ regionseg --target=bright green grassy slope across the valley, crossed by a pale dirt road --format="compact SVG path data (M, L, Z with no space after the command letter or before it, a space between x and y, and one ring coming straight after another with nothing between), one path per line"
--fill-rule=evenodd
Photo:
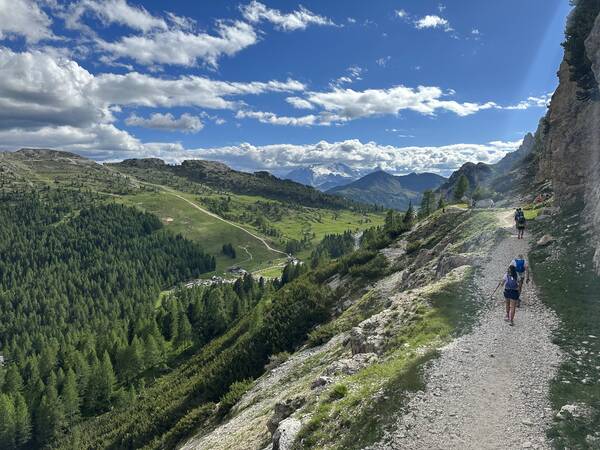
M256 211L251 211L257 202L276 204L279 207L285 209L281 220L270 220L266 216L262 216L265 219L266 224L269 227L277 229L281 236L269 237L264 235L260 229L249 223L248 220L231 220L245 229L257 234L267 240L273 248L278 250L285 250L285 243L291 239L300 240L303 232L309 233L314 238L311 239L307 248L298 252L297 257L303 259L307 258L312 249L320 242L320 240L329 233L342 233L348 229L365 229L373 225L380 225L383 223L383 213L368 213L362 214L350 210L337 210L334 215L332 210L322 208L311 208L298 205L289 205L276 200L269 200L265 197L255 195L242 195L233 194L222 190L217 190L206 186L204 184L196 183L189 178L172 174L166 171L163 167L128 167L122 165L109 165L110 170L117 171L127 174L130 177L140 180L143 184L153 184L154 190L159 190L160 186L168 186L169 189L176 191L179 195L186 197L205 209L210 210L208 203L210 200L220 200L223 198L229 198L230 211L232 215L242 215L243 213L256 214ZM148 208L149 211L154 212L160 217L171 217L175 219L174 206L167 205L168 197L162 196L160 200L154 200L151 196L142 195L134 199L139 207ZM164 201L163 201L164 200ZM172 200L178 200L175 205L181 205L185 207L179 216L185 221L185 216L188 210L193 210L189 204L172 197ZM126 198L126 201L131 199ZM170 214L170 215L169 215ZM253 239L248 234L235 227L228 226L221 221L218 221L210 216L202 214L196 210L193 213L194 223L176 224L176 221L172 222L173 226L171 229L181 232L184 236L191 239L202 239L206 249L209 253L214 254L217 257L217 273L222 272L227 267L240 264L247 270L257 271L267 269L262 275L266 276L278 276L281 273L281 268L277 269L274 266L281 266L285 259L281 258L281 254L273 253L268 251L264 246L261 245L256 239ZM250 221L252 222L252 221ZM187 225L187 226L181 226ZM216 240L204 239L199 231L207 233L209 238L213 236ZM221 247L224 243L231 242L237 252L235 260L224 257L220 254ZM252 253L253 259L248 259L248 254L239 246L248 248L248 251ZM214 250L213 250L214 249Z

